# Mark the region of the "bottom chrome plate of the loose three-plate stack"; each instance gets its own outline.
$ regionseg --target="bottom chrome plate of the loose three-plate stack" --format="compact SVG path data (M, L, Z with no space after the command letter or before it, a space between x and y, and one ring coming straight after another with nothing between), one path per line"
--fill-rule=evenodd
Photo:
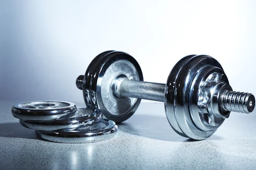
M35 130L35 132L39 138L51 142L89 143L110 139L116 134L117 129L118 128L115 122L102 119L100 122L97 122L91 126L84 127L81 130L68 130L58 132Z

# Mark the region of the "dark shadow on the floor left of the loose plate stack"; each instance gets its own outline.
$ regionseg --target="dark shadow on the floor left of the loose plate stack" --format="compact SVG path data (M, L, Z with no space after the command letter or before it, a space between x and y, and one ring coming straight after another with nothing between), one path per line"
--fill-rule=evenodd
M0 137L37 139L35 130L27 129L21 126L20 123L0 124Z

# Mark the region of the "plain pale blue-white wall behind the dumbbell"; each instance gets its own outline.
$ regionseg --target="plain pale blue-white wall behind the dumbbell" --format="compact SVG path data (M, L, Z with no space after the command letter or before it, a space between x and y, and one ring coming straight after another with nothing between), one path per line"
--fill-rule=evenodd
M256 1L0 1L0 99L83 101L75 80L99 53L131 54L145 81L207 54L256 94ZM143 101L145 102L145 101Z

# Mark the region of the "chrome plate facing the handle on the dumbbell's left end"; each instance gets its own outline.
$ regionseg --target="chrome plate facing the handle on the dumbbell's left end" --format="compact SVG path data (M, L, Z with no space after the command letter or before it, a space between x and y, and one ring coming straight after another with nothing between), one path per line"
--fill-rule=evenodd
M138 62L129 54L113 51L98 61L90 79L92 105L114 122L123 122L133 115L141 99L118 98L113 94L112 85L117 77L143 81Z

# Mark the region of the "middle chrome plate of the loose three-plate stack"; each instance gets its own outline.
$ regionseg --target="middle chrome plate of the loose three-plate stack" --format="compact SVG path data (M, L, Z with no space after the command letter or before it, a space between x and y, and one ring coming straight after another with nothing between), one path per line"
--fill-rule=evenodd
M63 116L54 121L27 121L20 119L20 124L35 130L64 131L82 129L86 126L91 126L102 119L101 113L79 107L73 116L67 116Z

